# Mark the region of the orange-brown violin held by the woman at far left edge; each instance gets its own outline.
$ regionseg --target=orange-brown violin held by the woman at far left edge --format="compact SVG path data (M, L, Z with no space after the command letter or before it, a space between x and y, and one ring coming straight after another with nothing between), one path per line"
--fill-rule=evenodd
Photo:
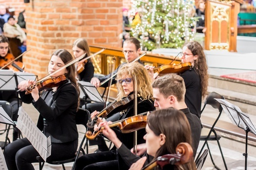
M15 57L8 53L4 58L0 58L0 67L3 69L23 72L25 67L23 63L21 61L12 61L14 59Z

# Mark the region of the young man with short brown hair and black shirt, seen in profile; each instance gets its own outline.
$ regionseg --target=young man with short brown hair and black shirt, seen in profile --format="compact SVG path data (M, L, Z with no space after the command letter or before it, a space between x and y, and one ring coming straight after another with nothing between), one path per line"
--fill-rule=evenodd
M196 150L200 141L201 121L190 112L185 103L185 83L181 76L176 74L166 74L156 79L153 84L153 97L155 99L154 106L156 110L167 109L173 107L185 113L190 123L192 133L192 149L195 157ZM132 150L131 150L132 151ZM146 152L145 144L137 146L138 155Z

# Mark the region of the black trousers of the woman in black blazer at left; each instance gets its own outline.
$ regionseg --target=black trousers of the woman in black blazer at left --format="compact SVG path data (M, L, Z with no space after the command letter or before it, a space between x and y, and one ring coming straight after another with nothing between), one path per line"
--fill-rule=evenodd
M64 160L74 156L78 140L66 143L52 143L51 156L46 161ZM34 170L31 163L38 162L38 152L27 138L8 144L4 149L8 170Z

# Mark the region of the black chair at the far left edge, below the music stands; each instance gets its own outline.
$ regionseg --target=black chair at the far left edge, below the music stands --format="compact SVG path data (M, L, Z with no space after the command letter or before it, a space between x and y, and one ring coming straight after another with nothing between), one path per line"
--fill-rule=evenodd
M8 116L12 119L13 109L12 109L11 104L9 102L7 102L7 101L0 100L0 106L8 114ZM0 142L0 147L2 149L4 149L5 146L10 143L10 139L8 138L10 126L11 125L6 124L5 125L5 129L0 130L0 134L6 133L5 141L4 142Z

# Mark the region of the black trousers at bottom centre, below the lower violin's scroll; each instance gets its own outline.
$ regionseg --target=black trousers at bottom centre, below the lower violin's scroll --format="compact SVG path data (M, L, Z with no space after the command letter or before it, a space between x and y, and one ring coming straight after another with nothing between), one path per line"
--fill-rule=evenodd
M116 150L83 155L76 161L76 170L128 170Z

